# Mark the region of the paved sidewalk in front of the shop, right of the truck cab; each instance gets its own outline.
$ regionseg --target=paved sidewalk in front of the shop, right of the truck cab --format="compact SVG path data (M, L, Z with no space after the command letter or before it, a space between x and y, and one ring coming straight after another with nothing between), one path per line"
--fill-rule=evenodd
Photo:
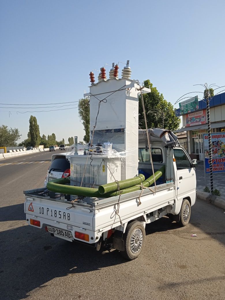
M206 186L210 189L210 174L204 176L204 163L198 161L198 167L195 168L197 189L202 190L205 188L205 176ZM220 191L220 198L225 199L225 172L213 173L213 189Z

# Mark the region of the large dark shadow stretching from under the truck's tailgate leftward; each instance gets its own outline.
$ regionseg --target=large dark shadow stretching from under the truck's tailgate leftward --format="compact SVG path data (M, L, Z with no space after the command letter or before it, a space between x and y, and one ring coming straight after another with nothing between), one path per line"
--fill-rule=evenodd
M125 263L117 250L95 251L21 226L0 232L0 299L19 300L56 277Z

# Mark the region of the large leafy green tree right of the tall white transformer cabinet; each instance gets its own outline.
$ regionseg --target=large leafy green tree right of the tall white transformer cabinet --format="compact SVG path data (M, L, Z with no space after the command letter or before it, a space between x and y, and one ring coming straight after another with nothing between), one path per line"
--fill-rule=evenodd
M181 121L176 117L173 105L164 99L163 94L153 87L149 79L144 81L144 86L151 88L151 93L143 94L148 128L164 128L172 131L178 129ZM146 128L141 96L139 96L139 126L141 129Z

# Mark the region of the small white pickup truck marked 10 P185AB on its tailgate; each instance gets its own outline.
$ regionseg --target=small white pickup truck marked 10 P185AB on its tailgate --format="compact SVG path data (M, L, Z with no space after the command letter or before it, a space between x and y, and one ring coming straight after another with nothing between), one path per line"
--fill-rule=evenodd
M139 142L138 148L139 171L152 174L146 143ZM176 143L170 164L167 147L159 140L151 142L151 153L154 172L165 165L166 170L172 170L171 178L167 178L167 172L150 189L110 198L84 197L73 203L70 195L46 188L26 190L27 224L44 227L52 236L70 242L89 244L97 250L112 247L127 259L137 258L145 244L147 223L168 216L185 226L196 201L196 165L184 148Z

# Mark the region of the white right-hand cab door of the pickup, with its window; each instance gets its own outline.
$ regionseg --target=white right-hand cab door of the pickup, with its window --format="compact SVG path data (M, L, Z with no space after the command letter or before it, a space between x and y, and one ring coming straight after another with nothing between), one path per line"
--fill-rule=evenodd
M190 196L192 198L192 193L196 193L196 175L195 169L192 167L192 162L183 149L173 149L173 155L176 160L177 168L177 199L184 199L185 196Z

